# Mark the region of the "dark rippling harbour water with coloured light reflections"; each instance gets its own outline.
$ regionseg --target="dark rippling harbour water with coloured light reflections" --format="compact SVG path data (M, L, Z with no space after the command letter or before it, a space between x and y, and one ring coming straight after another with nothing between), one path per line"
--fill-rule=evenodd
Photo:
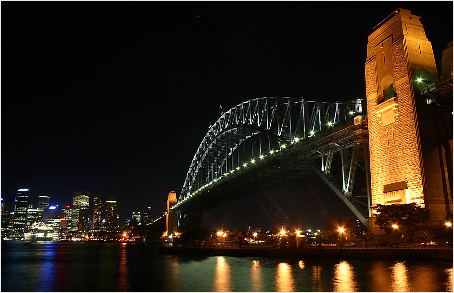
M159 255L120 243L1 244L2 292L452 292L440 261Z

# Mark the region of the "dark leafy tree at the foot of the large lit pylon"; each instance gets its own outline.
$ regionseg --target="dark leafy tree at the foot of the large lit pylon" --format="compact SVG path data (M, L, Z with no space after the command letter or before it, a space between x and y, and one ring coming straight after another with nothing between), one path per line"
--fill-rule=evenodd
M392 225L405 228L407 232L418 229L418 224L429 218L429 211L416 203L401 205L377 205L376 221L381 230L392 231Z

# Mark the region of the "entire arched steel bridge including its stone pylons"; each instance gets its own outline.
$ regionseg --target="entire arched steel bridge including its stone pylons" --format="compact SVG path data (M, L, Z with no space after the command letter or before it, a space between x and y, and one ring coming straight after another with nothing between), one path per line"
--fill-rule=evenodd
M369 219L379 204L415 203L429 211L427 227L451 223L452 42L442 61L438 75L420 17L396 9L369 35L366 99L263 97L232 107L203 137L178 198L171 192L151 225L184 230L205 210L309 174L366 229L378 230Z

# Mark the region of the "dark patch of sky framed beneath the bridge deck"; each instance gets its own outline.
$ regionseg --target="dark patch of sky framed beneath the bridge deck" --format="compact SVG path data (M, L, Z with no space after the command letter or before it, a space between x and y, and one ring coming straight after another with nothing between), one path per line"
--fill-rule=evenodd
M280 183L204 212L201 225L210 229L262 231L280 229L288 217L295 229L321 229L328 218L354 214L318 177Z

